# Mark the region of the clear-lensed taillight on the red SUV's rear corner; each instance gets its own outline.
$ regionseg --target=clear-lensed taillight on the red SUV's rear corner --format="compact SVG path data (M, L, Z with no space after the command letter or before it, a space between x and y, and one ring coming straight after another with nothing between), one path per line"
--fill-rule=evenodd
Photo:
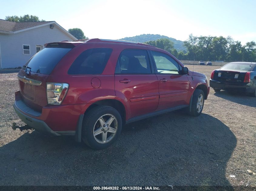
M68 92L66 83L47 83L47 103L49 105L60 105Z

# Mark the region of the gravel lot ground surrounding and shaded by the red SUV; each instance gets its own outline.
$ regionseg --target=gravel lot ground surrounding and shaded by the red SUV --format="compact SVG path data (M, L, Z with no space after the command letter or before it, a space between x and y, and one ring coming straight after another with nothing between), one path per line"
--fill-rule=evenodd
M192 69L192 65L187 65ZM194 66L210 78L218 66ZM215 93L198 117L180 111L131 123L110 148L12 131L17 73L0 74L0 185L256 186L256 98ZM234 175L235 177L230 177Z

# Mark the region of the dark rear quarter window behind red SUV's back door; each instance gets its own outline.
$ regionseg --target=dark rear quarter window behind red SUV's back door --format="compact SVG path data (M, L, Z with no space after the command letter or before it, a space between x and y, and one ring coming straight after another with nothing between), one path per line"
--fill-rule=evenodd
M87 49L75 59L68 74L101 74L111 53L111 48Z

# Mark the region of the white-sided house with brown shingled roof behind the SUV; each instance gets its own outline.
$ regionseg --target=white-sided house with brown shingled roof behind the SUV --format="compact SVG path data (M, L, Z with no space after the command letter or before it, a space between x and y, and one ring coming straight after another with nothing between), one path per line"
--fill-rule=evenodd
M0 68L15 68L44 48L45 43L77 40L55 21L12 22L0 19Z

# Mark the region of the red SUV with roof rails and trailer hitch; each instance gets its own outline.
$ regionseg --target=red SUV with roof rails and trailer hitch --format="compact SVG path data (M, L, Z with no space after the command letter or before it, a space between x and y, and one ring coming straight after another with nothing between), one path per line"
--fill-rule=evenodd
M119 40L45 44L18 79L14 108L26 129L74 135L94 149L111 145L124 124L181 108L198 116L209 93L205 75L165 50Z

